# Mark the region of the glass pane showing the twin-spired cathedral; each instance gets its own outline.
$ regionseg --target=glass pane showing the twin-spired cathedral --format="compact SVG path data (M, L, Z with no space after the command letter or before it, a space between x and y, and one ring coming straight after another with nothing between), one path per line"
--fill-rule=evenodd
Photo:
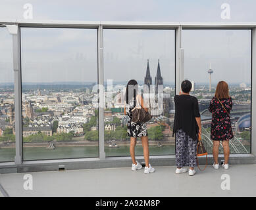
M163 110L149 107L153 115L147 122L149 151L150 155L174 154L174 30L104 30L104 78L105 89L113 83L104 114L106 156L130 156L129 119L122 100L130 79L138 81L144 101L144 84L158 84L159 89L163 85ZM143 155L140 138L136 155Z

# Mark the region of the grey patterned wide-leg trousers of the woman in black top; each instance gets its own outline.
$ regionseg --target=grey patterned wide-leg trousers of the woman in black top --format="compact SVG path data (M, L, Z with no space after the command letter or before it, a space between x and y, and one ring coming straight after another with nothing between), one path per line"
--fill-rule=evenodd
M190 138L182 129L176 131L176 166L195 167L197 140Z

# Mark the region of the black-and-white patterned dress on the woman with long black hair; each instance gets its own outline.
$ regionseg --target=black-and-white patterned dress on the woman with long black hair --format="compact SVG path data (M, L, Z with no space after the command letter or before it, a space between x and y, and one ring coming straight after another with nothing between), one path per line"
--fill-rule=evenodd
M132 109L134 108L134 102L126 104L126 115L129 117L127 123L127 134L129 137L147 137L147 124L146 123L134 123L132 122Z

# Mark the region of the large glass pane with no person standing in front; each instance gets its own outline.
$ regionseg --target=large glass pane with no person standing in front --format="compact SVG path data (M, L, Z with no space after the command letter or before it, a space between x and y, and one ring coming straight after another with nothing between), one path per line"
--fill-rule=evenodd
M97 30L22 28L21 43L24 159L98 157Z

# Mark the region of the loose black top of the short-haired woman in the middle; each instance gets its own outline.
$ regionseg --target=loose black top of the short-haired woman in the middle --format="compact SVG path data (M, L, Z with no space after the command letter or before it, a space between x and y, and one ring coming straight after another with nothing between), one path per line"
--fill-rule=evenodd
M172 136L178 129L182 129L193 140L197 140L199 127L195 117L200 117L197 98L191 95L176 95L174 102L175 118Z

